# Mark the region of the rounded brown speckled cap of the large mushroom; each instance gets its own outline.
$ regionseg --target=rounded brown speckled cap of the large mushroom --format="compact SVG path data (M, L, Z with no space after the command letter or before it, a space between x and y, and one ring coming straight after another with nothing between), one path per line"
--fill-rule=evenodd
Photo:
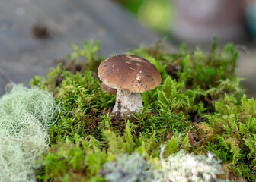
M107 86L131 93L155 89L161 75L148 60L136 55L116 55L101 62L98 77Z

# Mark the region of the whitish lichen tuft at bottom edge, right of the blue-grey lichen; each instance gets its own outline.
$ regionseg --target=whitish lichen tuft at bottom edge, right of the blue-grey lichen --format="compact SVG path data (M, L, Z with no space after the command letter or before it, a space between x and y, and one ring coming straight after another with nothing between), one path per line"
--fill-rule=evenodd
M180 151L163 158L162 146L160 160L165 181L172 182L220 182L229 181L218 178L222 174L221 161L208 152L207 155L193 155Z

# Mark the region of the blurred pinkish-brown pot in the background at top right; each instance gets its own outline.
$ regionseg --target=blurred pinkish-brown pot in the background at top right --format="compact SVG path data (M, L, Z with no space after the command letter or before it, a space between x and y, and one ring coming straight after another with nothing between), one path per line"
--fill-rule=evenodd
M172 29L182 42L240 42L245 30L244 0L174 0L176 18Z

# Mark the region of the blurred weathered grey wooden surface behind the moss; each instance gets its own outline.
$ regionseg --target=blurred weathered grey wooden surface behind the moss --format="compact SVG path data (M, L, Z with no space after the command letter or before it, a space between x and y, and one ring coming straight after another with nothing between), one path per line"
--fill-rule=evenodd
M31 28L41 23L49 39L35 39ZM108 0L2 0L0 2L0 67L14 83L28 85L45 75L72 44L101 42L101 54L121 54L159 37L135 17ZM2 86L1 86L2 88Z

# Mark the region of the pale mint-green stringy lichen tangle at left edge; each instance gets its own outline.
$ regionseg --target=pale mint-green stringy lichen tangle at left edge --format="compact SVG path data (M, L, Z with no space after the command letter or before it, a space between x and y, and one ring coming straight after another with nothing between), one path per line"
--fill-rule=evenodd
M0 98L0 181L35 181L37 157L50 142L56 102L40 89L14 86Z

